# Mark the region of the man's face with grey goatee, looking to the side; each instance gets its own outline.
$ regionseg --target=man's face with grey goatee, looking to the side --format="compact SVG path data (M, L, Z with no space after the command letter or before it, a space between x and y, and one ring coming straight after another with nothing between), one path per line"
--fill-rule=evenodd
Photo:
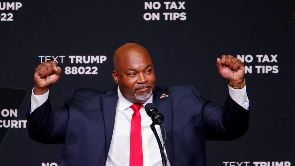
M116 83L122 95L133 103L146 102L156 85L153 63L148 52L128 51L119 59Z

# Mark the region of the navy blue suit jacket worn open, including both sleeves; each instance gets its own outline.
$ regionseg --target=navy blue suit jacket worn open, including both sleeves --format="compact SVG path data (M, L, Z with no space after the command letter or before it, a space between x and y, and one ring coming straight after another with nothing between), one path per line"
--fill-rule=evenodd
M162 94L169 96L160 99ZM28 110L29 135L40 143L64 143L60 166L104 166L117 100L117 86L106 92L73 90L58 110L51 110L48 98L31 114ZM204 100L193 86L156 87L153 101L165 117L165 149L171 166L205 166L205 140L237 139L248 129L249 110L229 95L220 108Z

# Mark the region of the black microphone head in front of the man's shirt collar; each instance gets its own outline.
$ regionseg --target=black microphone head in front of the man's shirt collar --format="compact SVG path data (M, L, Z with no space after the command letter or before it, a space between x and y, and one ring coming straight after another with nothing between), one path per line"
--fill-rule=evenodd
M148 114L149 117L152 118L154 124L157 124L163 127L164 116L163 114L159 113L155 104L148 103L145 105L145 112Z

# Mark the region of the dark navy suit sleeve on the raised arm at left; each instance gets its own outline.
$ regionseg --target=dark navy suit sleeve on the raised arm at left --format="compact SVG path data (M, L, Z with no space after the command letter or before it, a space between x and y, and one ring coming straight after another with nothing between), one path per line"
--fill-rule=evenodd
M26 113L28 131L30 137L43 144L55 144L65 142L65 131L68 124L70 102L75 95L71 92L64 105L58 110L52 110L49 97L44 104L30 114L30 108Z

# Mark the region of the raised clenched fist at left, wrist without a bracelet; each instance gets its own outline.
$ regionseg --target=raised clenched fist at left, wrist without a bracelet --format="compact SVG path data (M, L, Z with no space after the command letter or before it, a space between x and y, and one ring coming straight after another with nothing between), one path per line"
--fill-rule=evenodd
M35 69L35 95L43 95L49 90L50 85L55 84L60 78L61 70L56 61L43 62Z

